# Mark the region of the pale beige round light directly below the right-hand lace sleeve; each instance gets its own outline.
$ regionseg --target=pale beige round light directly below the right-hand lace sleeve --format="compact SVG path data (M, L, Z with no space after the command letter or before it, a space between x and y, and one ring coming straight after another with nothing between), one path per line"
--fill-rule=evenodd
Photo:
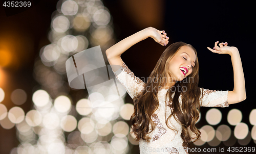
M213 108L206 113L206 120L211 125L216 125L220 123L221 118L222 118L222 114L218 109Z

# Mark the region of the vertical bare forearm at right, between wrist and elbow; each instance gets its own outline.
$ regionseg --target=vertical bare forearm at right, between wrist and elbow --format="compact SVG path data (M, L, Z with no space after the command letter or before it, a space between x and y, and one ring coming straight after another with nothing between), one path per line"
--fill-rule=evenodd
M244 80L244 72L242 67L242 62L240 58L239 51L236 50L232 52L231 61L233 66L233 73L234 73L234 89L233 92L237 94L237 97L240 100L246 98L245 93L245 80Z

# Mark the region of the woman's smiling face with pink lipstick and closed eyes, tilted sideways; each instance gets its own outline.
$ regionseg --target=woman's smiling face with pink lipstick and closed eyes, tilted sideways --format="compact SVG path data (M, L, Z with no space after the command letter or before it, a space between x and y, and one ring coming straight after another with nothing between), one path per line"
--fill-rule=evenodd
M175 56L169 61L169 72L172 74L172 80L182 81L189 74L191 74L193 67L195 66L196 54L194 50L189 46L182 46L175 54ZM181 69L185 69L186 72ZM167 74L168 78L169 75Z

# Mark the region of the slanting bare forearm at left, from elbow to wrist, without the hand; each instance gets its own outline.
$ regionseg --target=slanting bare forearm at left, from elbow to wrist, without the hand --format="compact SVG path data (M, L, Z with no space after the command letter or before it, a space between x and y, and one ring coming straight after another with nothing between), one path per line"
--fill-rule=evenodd
M121 41L116 43L115 45L111 46L109 49L106 50L107 57L116 57L121 56L127 49L129 49L134 44L150 37L150 28L143 29Z

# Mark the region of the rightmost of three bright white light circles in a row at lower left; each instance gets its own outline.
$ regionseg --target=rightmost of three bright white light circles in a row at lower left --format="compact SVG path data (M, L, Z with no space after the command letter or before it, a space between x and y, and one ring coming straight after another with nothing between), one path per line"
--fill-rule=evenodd
M80 115L88 115L92 112L91 101L89 99L82 98L77 101L76 111Z

